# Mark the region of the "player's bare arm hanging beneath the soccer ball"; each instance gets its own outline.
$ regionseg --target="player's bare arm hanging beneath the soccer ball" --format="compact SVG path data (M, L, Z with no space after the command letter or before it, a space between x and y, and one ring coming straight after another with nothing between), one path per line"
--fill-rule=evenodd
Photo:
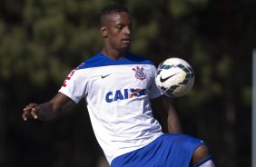
M153 109L157 112L156 114L160 117L164 131L168 133L182 133L180 118L172 106L170 98L162 95L153 99L151 103L153 104Z

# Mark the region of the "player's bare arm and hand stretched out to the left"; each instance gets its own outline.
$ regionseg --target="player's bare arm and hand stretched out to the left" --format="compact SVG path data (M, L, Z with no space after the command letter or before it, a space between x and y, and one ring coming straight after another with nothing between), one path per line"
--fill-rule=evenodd
M64 93L57 93L53 99L46 103L30 103L25 106L23 119L26 121L29 118L39 120L54 119L64 108L72 105L74 102Z

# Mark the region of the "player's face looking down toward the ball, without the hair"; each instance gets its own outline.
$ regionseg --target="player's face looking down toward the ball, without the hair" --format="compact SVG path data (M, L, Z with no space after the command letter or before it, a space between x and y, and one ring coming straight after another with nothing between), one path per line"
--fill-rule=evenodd
M132 19L125 12L109 15L105 25L105 43L117 51L126 51L131 43Z

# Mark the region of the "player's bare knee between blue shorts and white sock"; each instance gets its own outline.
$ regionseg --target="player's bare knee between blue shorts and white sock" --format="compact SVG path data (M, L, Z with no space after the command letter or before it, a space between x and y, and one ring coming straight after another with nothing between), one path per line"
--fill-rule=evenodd
M208 147L206 145L200 145L195 149L192 155L192 163L198 163L201 162L204 158L209 156Z

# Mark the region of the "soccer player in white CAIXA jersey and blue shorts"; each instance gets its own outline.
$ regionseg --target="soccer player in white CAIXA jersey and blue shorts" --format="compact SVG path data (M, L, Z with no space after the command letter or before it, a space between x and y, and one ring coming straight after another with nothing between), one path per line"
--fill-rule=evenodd
M25 106L23 119L54 119L85 98L96 139L112 167L214 166L205 143L182 134L170 99L155 85L153 63L128 52L133 22L127 8L103 8L100 24L102 51L77 66L49 102ZM162 125L153 109L162 115Z

